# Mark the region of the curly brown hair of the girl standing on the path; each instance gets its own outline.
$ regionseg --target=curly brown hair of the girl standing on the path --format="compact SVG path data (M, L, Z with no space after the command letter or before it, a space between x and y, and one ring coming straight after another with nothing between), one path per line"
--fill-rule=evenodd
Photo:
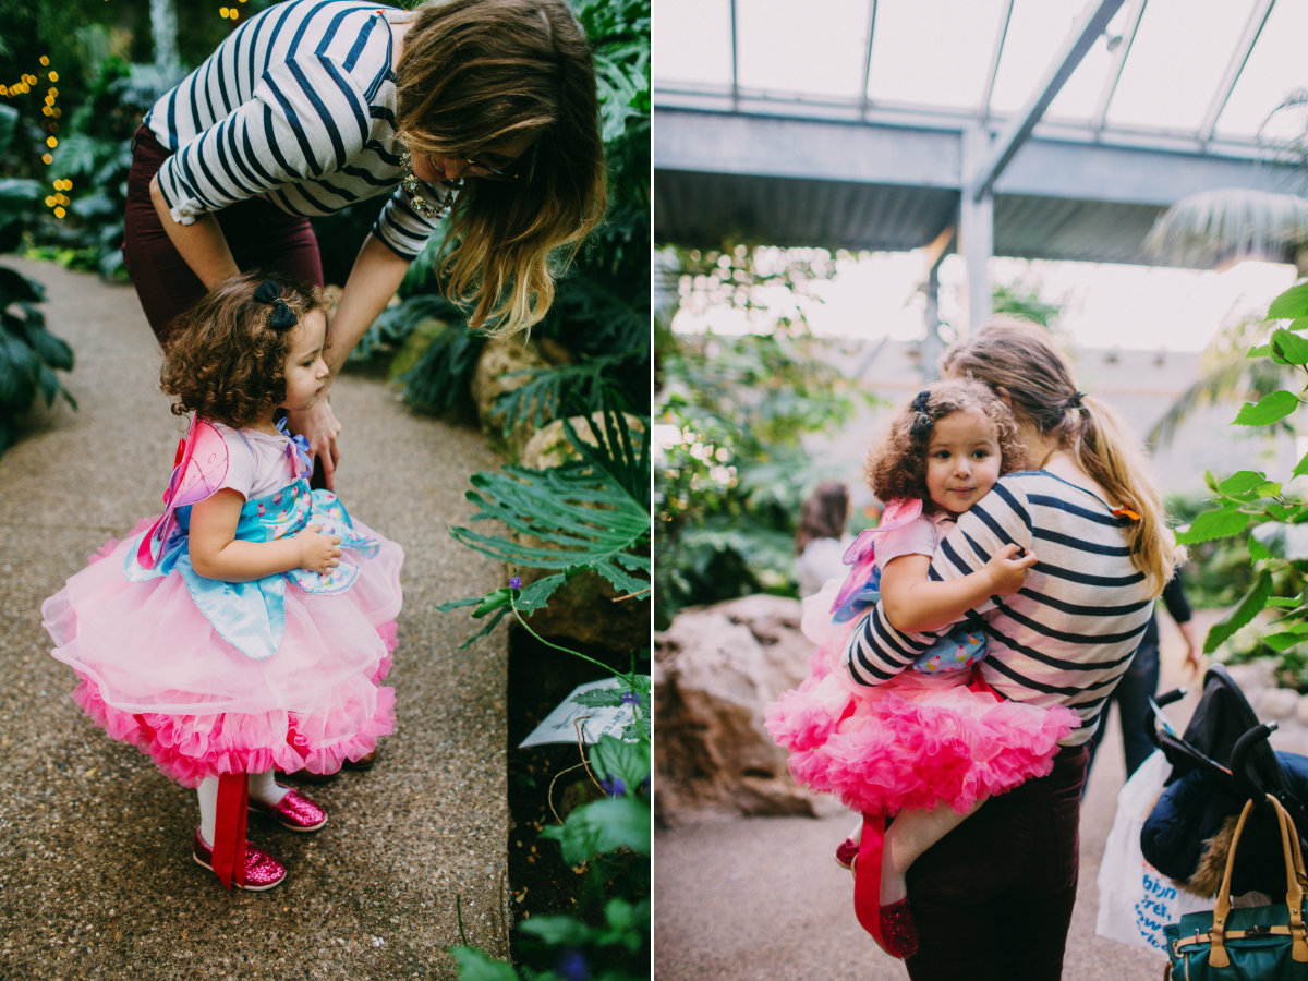
M271 280L301 323L327 311L317 288L276 272L243 272L224 280L177 319L164 348L160 387L173 395L173 415L198 412L233 429L251 425L286 398L292 330L273 330L273 303L255 300Z

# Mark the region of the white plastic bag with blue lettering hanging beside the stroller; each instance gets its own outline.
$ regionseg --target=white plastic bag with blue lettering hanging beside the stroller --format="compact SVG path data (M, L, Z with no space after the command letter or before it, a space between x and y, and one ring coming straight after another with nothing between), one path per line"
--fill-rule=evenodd
M1180 892L1163 872L1144 861L1141 829L1172 774L1172 764L1155 752L1131 774L1117 795L1117 818L1108 833L1104 861L1099 866L1100 937L1146 950L1163 950L1163 927L1184 913L1213 909L1215 899Z

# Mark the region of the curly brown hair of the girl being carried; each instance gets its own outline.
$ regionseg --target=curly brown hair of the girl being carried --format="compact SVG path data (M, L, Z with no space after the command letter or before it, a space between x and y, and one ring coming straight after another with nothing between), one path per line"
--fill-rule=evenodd
M925 405L922 395L926 395ZM921 407L918 411L917 407ZM976 412L994 424L999 443L999 472L1011 473L1027 462L1027 447L1018 439L1018 424L1003 400L978 382L935 382L923 388L889 421L863 464L863 476L882 501L916 498L927 513L938 510L926 490L926 447L930 428L916 426L922 416L933 422L955 412Z

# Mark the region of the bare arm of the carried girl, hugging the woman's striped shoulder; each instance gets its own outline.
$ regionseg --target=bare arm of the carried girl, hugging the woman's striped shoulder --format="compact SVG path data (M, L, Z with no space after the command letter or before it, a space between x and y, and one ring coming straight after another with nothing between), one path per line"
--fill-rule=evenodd
M1005 545L974 573L948 582L929 578L931 556L903 555L891 559L882 570L882 603L886 617L896 630L921 633L939 630L961 620L969 610L981 606L990 596L1005 596L1022 589L1027 569L1036 564L1036 556Z

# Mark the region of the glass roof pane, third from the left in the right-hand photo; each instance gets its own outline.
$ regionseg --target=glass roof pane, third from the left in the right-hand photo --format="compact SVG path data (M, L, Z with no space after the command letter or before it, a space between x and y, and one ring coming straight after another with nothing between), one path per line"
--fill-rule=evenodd
M879 0L869 98L977 109L1001 8L999 0Z

